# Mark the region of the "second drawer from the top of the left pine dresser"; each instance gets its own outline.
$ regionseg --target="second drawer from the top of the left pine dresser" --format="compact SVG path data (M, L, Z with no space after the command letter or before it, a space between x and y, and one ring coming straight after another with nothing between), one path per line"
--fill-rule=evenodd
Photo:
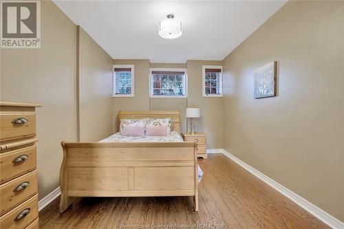
M15 162L17 161L17 162ZM36 168L36 146L0 154L0 184Z

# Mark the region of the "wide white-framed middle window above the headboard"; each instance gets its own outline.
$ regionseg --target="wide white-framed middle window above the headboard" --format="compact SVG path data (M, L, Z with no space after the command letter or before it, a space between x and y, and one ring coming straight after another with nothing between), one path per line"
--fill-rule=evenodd
M186 70L151 69L149 85L151 98L185 98Z

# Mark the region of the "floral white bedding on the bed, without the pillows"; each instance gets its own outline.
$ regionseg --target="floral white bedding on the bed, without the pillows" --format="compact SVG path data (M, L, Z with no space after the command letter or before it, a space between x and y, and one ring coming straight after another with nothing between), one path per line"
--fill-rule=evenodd
M113 135L100 140L99 142L184 142L182 136L178 132L171 131L167 136L143 136L143 137L132 137L123 136L120 133L114 133ZM203 171L198 166L198 182L203 177Z

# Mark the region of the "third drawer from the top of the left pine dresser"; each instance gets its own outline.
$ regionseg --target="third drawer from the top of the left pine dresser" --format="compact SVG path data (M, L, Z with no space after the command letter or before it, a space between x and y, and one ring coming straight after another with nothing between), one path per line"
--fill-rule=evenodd
M0 215L37 193L37 172L32 171L0 186Z

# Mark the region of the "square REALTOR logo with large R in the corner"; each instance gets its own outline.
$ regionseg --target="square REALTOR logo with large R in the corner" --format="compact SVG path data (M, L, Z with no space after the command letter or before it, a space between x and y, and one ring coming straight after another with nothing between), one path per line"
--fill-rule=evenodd
M1 48L41 47L39 1L1 1Z

